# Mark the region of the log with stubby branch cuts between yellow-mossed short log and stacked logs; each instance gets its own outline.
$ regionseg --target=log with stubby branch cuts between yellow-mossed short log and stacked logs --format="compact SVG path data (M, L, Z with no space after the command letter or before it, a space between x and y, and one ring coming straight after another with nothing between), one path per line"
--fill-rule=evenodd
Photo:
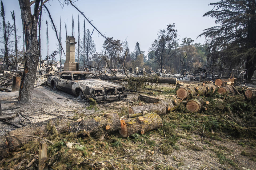
M143 106L135 106L131 107L133 109L133 113L142 113L146 111L148 113L154 112L159 115L168 114L179 107L180 101L175 98L167 98L166 100L160 100L157 103Z

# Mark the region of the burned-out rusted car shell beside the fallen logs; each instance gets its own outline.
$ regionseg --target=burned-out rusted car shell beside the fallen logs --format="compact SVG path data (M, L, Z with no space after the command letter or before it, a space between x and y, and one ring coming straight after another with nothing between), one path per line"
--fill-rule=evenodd
M127 97L125 87L99 79L88 71L62 71L47 79L47 84L55 89L96 101L117 100Z

